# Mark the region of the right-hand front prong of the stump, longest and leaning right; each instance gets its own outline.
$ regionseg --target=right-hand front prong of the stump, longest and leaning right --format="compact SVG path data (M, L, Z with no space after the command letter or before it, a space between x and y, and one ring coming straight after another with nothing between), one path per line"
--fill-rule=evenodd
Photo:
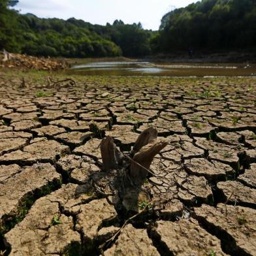
M138 153L135 153L130 170L130 176L135 184L142 184L148 175L153 157L163 150L167 144L168 142L157 142L153 140L150 144L141 148Z

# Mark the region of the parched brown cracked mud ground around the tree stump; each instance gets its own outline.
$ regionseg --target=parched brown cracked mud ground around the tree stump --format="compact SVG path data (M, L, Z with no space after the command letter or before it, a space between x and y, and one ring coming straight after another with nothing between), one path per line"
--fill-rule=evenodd
M256 255L255 78L47 76L0 71L0 255ZM90 184L101 138L129 152L147 127L168 204L101 251L126 219Z

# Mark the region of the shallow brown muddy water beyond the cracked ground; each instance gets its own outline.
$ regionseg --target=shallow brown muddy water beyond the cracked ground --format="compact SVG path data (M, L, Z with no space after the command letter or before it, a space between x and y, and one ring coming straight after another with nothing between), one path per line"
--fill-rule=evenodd
M74 65L67 72L108 76L256 76L256 64L102 61Z

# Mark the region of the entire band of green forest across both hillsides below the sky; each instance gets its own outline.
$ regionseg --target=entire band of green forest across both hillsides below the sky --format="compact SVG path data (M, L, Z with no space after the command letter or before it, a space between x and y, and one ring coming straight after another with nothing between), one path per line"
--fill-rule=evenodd
M256 46L255 0L202 0L166 14L159 31L139 24L92 25L70 18L19 14L17 0L0 0L0 50L33 56L146 56L176 50Z

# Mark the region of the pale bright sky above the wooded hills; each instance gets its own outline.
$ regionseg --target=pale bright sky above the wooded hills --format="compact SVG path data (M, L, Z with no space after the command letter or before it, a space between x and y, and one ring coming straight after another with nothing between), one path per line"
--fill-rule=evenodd
M161 18L173 8L185 7L191 0L20 0L16 9L31 12L41 18L71 17L91 24L112 24L123 20L125 24L141 22L145 29L159 28Z

